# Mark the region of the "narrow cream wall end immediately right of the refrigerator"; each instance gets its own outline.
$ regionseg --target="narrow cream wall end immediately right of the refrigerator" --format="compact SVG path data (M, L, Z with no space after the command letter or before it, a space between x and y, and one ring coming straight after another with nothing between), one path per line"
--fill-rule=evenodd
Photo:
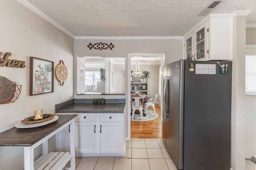
M233 18L231 168L245 169L245 16Z

